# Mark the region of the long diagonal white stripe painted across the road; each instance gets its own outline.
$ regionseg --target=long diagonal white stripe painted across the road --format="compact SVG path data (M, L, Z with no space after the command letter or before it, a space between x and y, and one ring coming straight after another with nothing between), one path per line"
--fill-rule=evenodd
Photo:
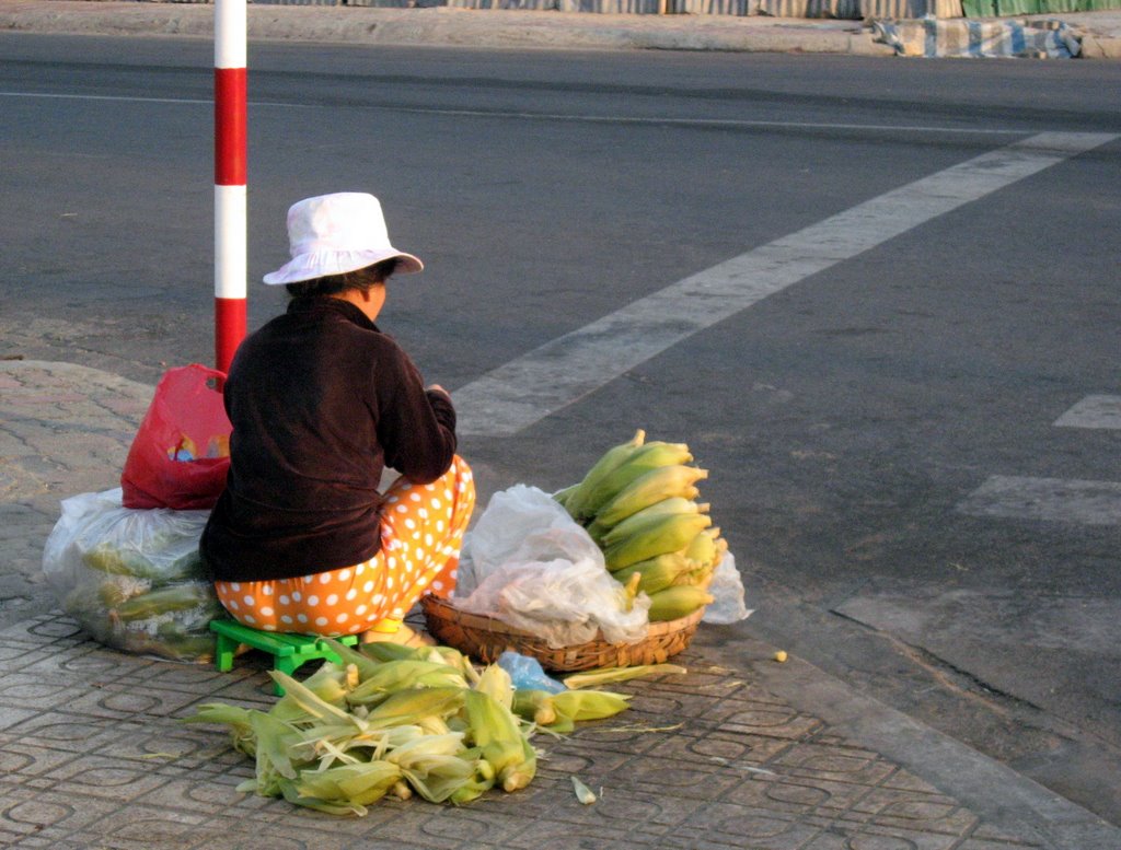
M460 387L457 430L517 433L767 296L1118 138L1039 133L671 283Z

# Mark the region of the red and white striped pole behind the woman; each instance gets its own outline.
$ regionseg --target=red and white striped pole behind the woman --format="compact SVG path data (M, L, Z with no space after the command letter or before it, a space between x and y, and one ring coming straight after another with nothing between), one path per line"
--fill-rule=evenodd
M245 0L214 0L214 353L230 371L245 336Z

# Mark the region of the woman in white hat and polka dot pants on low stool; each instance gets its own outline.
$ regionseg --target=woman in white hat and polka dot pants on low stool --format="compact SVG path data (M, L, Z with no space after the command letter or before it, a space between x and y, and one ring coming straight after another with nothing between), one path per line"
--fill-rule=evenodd
M363 193L294 204L288 236L293 259L265 275L287 312L242 342L225 382L230 471L202 554L247 626L417 643L401 620L454 587L475 502L451 396L374 324L390 275L424 265ZM400 477L381 493L387 467Z

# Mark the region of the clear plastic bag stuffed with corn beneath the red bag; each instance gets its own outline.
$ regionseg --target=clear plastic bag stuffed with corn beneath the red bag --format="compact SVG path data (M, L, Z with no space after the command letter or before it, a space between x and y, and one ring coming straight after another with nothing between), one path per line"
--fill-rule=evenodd
M43 573L63 609L99 643L175 661L214 656L222 614L203 575L209 511L121 506L121 489L64 499Z

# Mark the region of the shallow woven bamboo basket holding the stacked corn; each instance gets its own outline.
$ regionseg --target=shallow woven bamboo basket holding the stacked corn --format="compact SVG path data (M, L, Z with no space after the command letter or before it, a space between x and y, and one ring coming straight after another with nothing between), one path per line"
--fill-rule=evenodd
M597 633L596 639L555 650L537 637L494 617L470 614L455 608L446 599L432 594L420 597L420 608L428 623L428 633L439 643L453 646L484 664L498 661L507 650L537 658L554 672L573 672L595 667L628 667L638 664L660 664L689 645L697 631L704 608L687 617L651 623L647 636L633 644L612 644Z

